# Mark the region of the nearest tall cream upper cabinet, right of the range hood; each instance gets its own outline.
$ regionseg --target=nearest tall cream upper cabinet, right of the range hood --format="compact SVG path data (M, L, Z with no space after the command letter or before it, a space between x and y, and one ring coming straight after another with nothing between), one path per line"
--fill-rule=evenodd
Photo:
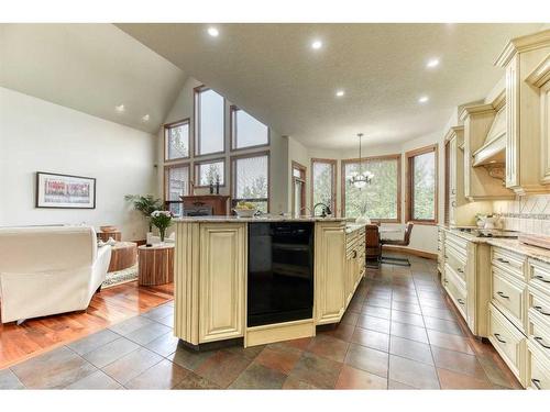
M496 65L506 68L506 187L550 192L550 30L510 41Z

